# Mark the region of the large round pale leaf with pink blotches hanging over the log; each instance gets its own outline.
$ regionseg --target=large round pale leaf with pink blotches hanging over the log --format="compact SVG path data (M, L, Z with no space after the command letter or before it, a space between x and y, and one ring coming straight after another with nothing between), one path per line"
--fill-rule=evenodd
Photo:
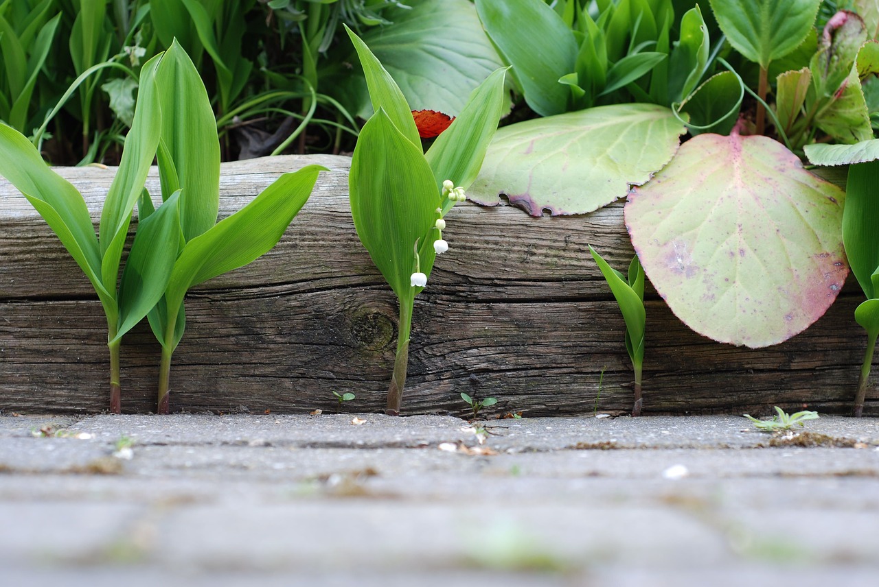
M687 326L766 347L810 326L842 289L844 197L774 140L701 134L629 195L626 225Z

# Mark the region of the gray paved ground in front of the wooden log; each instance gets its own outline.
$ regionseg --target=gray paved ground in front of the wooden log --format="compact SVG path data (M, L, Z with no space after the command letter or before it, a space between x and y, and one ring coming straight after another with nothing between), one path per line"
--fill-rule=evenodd
M0 585L870 585L879 420L0 416Z

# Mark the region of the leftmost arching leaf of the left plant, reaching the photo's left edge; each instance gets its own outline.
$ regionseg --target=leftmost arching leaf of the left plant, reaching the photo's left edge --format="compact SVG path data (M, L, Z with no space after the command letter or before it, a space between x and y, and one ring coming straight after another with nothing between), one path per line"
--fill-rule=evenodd
M0 124L0 175L40 212L95 290L109 295L101 284L98 238L83 197L47 167L24 135L4 124Z

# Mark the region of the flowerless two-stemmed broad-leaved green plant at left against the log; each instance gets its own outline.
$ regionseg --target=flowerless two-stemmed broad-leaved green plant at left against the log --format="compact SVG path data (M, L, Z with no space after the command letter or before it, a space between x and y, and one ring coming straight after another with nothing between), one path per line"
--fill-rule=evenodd
M163 204L154 210L144 183L156 157ZM134 125L105 199L98 236L76 189L47 168L23 135L0 125L0 175L46 219L104 306L112 412L121 408L123 334L149 315L162 343L158 412L167 413L171 354L185 328L186 290L271 249L322 169L309 166L281 175L250 204L217 223L220 145L214 114L193 62L176 42L143 67ZM135 203L140 222L119 282Z

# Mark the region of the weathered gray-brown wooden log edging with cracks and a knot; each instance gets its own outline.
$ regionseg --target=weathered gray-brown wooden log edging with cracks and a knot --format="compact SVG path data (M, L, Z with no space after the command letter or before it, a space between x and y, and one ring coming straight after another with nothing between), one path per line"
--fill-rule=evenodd
M186 299L171 370L171 411L381 412L396 347L396 300L354 232L350 159L283 156L222 165L221 217L278 175L331 172L278 247ZM114 168L58 168L97 225ZM156 170L148 181L158 194ZM416 299L403 413L464 414L461 391L497 397L495 413L591 415L631 409L624 325L587 244L612 266L633 254L621 203L585 217L530 218L461 204L450 243ZM825 317L776 347L702 338L648 288L644 413L849 413L865 336L850 279ZM0 179L0 411L101 412L106 325L91 285L18 191ZM123 412L156 404L159 347L145 323L122 347ZM599 394L599 376L604 370ZM879 415L875 385L865 415Z

